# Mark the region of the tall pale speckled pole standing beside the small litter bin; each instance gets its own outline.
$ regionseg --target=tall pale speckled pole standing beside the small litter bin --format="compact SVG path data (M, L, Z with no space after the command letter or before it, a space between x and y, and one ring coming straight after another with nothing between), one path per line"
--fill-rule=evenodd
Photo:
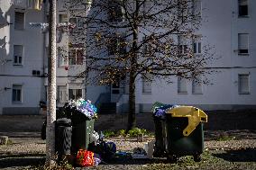
M48 105L46 128L46 166L55 164L55 121L56 121L56 0L50 0L48 58Z

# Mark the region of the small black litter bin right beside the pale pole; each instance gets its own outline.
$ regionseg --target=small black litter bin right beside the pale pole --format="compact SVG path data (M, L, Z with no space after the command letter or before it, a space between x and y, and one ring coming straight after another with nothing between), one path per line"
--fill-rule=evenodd
M72 126L71 120L61 118L56 121L56 151L59 157L71 153Z

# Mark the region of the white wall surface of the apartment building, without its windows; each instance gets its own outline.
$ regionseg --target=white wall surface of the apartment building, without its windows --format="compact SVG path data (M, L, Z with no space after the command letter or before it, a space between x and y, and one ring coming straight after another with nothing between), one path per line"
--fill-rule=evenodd
M11 0L0 1L2 16L1 22L14 23L14 8L24 9L25 4L11 5ZM17 1L23 2L23 1ZM249 17L238 17L237 1L228 0L202 0L203 24L197 34L203 35L203 45L214 46L212 52L216 57L221 57L209 65L217 67L215 73L208 76L213 85L203 85L202 94L192 94L191 82L187 83L187 94L178 94L177 77L172 77L173 84L167 85L164 81L152 83L151 94L142 94L142 79L136 82L136 111L151 112L151 104L154 102L197 105L202 109L233 109L255 108L256 106L256 1L249 0ZM60 7L59 13L65 13ZM47 80L43 77L32 76L32 70L40 70L43 73L47 66L47 54L43 44L43 34L40 28L32 28L29 22L44 22L43 10L40 12L24 10L25 29L15 31L14 24L0 27L0 114L3 113L36 113L39 102L45 99L45 85ZM249 56L240 56L237 53L238 33L249 33ZM47 34L46 34L47 37ZM69 39L64 35L58 46L67 46ZM23 66L14 67L14 44L24 46ZM83 66L69 66L57 68L57 85L78 87L86 93L84 79L75 79ZM47 72L47 69L44 71ZM238 75L250 75L250 94L238 93ZM12 86L23 85L23 103L12 103ZM93 103L99 99L100 94L110 93L109 86L87 86L87 99ZM85 94L86 95L86 94ZM127 108L128 95L123 94L118 105ZM21 110L20 108L23 108ZM19 111L19 112L17 112Z

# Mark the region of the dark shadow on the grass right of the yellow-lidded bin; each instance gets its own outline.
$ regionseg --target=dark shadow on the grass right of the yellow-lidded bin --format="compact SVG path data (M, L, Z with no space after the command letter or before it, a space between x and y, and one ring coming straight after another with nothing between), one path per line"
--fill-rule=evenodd
M229 162L256 162L256 148L227 150L225 153L213 154Z

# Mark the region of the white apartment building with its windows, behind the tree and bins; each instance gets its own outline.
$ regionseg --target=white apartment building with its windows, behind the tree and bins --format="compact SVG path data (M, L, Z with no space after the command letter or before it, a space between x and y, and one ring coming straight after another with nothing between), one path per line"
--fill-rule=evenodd
M30 2L0 1L0 114L38 114L46 102L48 32L31 22L47 22L48 6L39 9ZM198 3L198 2L197 2ZM63 6L64 5L64 6ZM215 46L220 57L210 63L217 71L210 85L173 76L172 84L136 81L136 112L151 112L154 102L196 105L205 110L256 108L256 2L252 0L198 3L202 26L193 41L194 53L204 44ZM88 6L67 12L58 1L58 22L72 22L73 31L84 31ZM70 10L70 9L69 9ZM71 9L72 10L72 9ZM79 17L80 16L80 17ZM58 29L57 103L87 97L93 103L114 103L116 112L127 112L128 85L87 85L84 55L87 44L76 42L64 27Z

